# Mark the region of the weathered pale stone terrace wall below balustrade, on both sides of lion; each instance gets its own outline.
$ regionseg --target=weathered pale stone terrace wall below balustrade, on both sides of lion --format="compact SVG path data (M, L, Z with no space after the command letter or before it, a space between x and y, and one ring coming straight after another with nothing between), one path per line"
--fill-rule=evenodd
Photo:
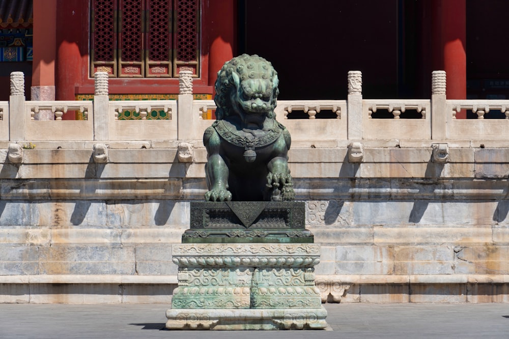
M106 142L99 163L93 144L0 150L0 302L170 302L206 151ZM289 153L323 301L509 301L509 148L449 144L442 162L431 141L361 146L360 162L339 142Z

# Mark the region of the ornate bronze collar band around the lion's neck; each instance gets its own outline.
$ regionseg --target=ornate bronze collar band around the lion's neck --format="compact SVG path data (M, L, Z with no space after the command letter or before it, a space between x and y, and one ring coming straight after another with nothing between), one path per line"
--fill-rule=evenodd
M224 120L216 120L212 124L217 133L226 141L245 149L254 149L267 146L277 140L284 127L276 120L270 130L253 130L251 133L245 130L237 130L226 124Z

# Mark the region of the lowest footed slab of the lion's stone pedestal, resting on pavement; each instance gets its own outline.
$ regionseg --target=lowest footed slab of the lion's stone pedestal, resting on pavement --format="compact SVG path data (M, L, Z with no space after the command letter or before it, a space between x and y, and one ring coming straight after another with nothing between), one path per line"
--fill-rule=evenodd
M166 311L166 328L176 330L325 329L327 311L317 309L224 309Z

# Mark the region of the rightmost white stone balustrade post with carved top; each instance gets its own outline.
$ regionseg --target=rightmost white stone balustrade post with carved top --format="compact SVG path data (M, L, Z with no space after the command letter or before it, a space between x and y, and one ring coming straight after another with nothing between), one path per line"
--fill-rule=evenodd
M431 138L433 140L447 139L447 99L445 71L431 73Z

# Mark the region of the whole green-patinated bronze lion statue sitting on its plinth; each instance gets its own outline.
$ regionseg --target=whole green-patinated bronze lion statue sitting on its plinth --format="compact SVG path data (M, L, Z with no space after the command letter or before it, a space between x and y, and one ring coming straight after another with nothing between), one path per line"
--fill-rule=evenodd
M295 199L290 133L274 114L278 83L271 63L258 55L234 57L217 73L217 120L203 136L206 201Z

